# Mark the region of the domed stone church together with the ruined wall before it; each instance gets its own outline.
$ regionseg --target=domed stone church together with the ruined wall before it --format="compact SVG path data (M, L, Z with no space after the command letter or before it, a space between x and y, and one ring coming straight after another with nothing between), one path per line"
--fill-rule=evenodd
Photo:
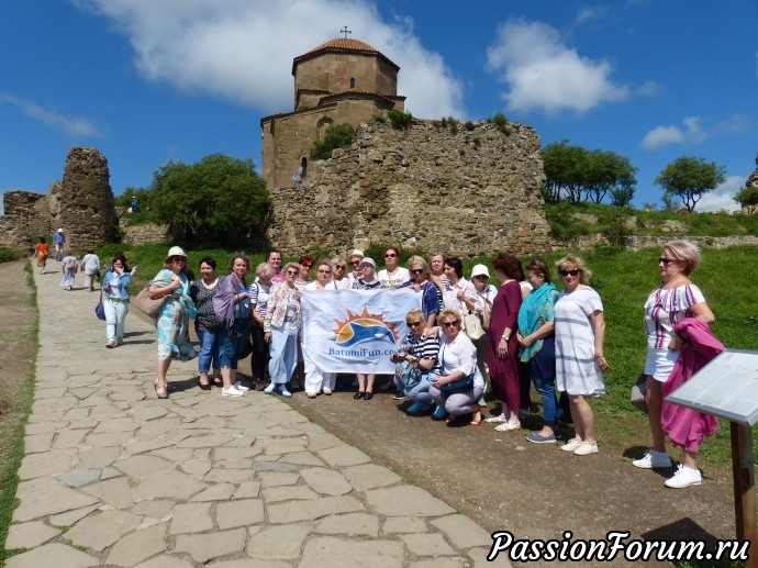
M294 58L294 110L260 121L271 244L286 255L370 245L459 256L549 250L534 130L419 119L395 130L387 112L404 110L399 70L358 40ZM345 122L356 127L353 144L309 163L326 127Z

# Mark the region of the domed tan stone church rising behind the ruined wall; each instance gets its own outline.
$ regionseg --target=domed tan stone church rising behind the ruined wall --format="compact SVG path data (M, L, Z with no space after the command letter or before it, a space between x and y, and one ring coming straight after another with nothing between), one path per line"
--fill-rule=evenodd
M403 111L398 96L400 67L358 40L328 41L292 62L294 110L260 120L261 176L269 188L308 176L309 153L330 124L361 122L389 109Z

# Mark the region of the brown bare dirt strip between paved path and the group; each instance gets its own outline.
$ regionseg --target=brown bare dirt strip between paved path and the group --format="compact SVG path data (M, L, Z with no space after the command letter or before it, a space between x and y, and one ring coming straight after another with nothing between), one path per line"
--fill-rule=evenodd
M428 416L411 417L402 412L408 402L391 393L365 402L354 401L353 392L315 401L298 392L291 403L489 531L559 541L565 531L573 539L602 539L609 531L646 539L734 538L731 478L720 475L698 488L667 489L670 471L664 477L631 465L628 456L640 456L644 447L603 444L602 432L600 454L578 457L555 445L528 443L527 428L538 427L538 417L521 432L498 433L483 423L449 427Z

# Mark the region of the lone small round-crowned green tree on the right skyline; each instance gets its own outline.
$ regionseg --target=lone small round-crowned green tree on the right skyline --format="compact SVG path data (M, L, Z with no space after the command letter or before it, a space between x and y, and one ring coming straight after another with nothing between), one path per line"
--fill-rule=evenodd
M704 158L681 156L666 166L655 182L664 196L680 198L688 211L694 211L698 201L726 179L726 169Z

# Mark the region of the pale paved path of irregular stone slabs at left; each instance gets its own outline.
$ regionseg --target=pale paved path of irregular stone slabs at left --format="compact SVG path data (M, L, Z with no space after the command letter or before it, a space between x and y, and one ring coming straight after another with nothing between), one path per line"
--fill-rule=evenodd
M98 294L35 274L36 391L8 568L461 567L489 534L276 397L222 399L174 363L153 390L155 341L132 313L105 349ZM405 448L405 450L417 450ZM462 464L461 464L461 467Z

